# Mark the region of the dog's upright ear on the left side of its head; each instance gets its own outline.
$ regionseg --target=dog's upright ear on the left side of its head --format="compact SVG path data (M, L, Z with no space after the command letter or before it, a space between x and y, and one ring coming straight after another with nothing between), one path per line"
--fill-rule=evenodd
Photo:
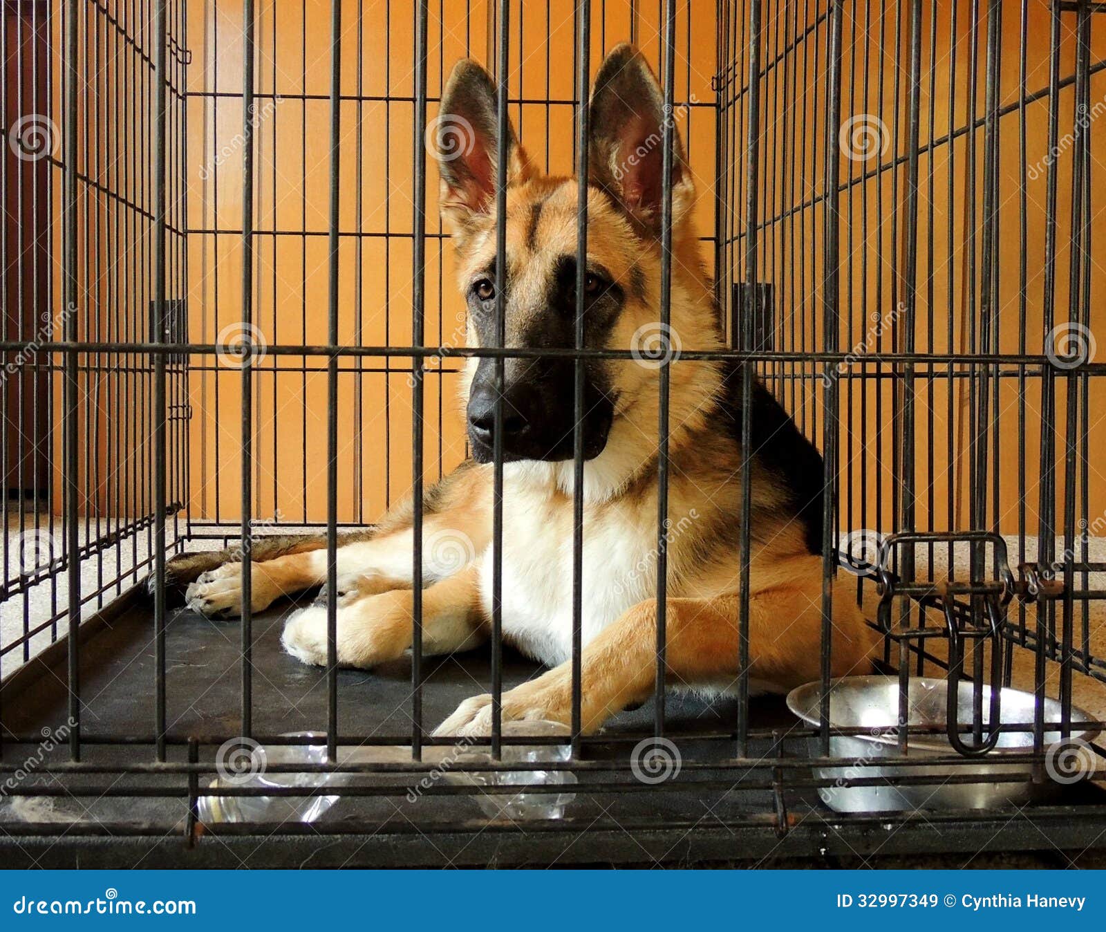
M476 215L494 209L499 164L495 130L495 84L477 62L463 59L449 75L432 138L441 175L441 213L460 230ZM532 169L510 121L505 145L508 185L525 180Z

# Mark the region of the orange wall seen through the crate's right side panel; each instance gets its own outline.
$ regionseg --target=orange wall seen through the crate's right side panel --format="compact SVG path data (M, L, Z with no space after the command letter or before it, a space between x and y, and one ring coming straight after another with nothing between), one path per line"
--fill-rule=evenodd
M981 4L985 7L987 4ZM743 23L745 2L737 3L737 35L747 41ZM983 262L983 157L984 133L974 134L974 166L969 167L969 134L962 132L969 121L971 102L972 48L978 55L975 83L975 117L985 114L985 69L988 22L985 9L980 13L973 35L970 6L959 4L952 22L952 4L922 4L920 48L920 127L918 158L918 224L911 242L906 225L907 184L907 117L910 74L911 3L844 4L842 60L842 122L860 121L862 126L883 132L875 149L856 158L843 154L839 160L841 182L852 183L839 198L841 211L841 329L838 344L843 352L859 348L857 362L849 366L841 381L841 458L843 530L894 528L894 464L900 451L896 417L900 412L900 395L893 392L891 382L884 379L876 387L876 374L889 375L888 365L864 364L868 352L895 352L906 349L905 319L895 313L906 296L906 259L914 248L917 258L916 325L917 351L963 353L982 349L979 319L982 292L980 280ZM1020 31L1021 4L1004 3L1001 21L1002 58L999 81L999 105L1008 106L1020 96ZM808 12L808 17L804 15ZM1027 4L1027 43L1025 49L1025 85L1030 92L1048 86L1050 10L1043 0ZM932 17L936 15L936 23ZM1106 54L1106 23L1092 18L1091 60ZM1076 18L1065 13L1061 44L1061 75L1074 73ZM936 42L931 28L936 27ZM811 38L800 42L786 68L778 66L761 82L763 144L761 152L761 186L759 217L770 222L760 236L758 277L776 287L780 324L776 349L812 350L824 346L822 289L823 261L823 178L825 164L825 108L828 75L826 71L826 23L815 22L815 11L797 4L766 4L762 24L763 62L773 61L787 38L813 30ZM884 50L879 42L883 38ZM950 70L954 84L950 86ZM1092 107L1098 106L1099 120L1106 116L1106 74L1091 80ZM738 107L740 115L744 104ZM1058 97L1060 137L1062 151L1055 158L1058 198L1056 203L1056 284L1053 294L1054 322L1070 319L1068 271L1072 230L1072 131L1074 127L1074 92L1071 86ZM1044 351L1045 289L1043 263L1045 256L1045 205L1047 168L1047 108L1043 97L1030 103L1024 112L1026 146L1025 214L1020 200L1020 131L1016 110L1000 121L998 169L998 290L993 299L998 314L999 349L1003 353L1041 353ZM960 131L953 142L946 138L950 128ZM744 123L741 123L744 131ZM805 131L805 145L803 133ZM878 138L878 137L877 137ZM1066 145L1064 141L1066 138ZM1106 188L1100 184L1099 167L1106 157L1106 132L1096 122L1089 127L1092 188L1089 216L1092 256L1100 252L1106 236ZM927 148L933 141L932 154ZM743 138L741 139L743 144ZM839 146L839 141L834 139ZM881 151L880 151L881 149ZM879 172L880 166L897 166ZM951 178L951 182L950 182ZM951 191L951 195L950 195ZM739 190L743 205L744 190ZM969 222L969 209L974 220ZM738 225L738 230L742 229ZM971 236L971 230L975 236ZM1021 238L1025 238L1024 299L1020 281ZM951 239L951 247L950 247ZM932 246L930 241L932 240ZM742 246L743 248L743 246ZM974 259L972 258L974 256ZM974 271L971 262L974 261ZM743 276L743 255L734 255L738 275ZM931 269L931 277L927 271ZM1091 262L1092 323L1099 317L1094 310L1106 290L1106 275L1100 263ZM969 284L973 288L969 289ZM1024 314L1024 330L1021 315ZM893 327L891 319L897 317ZM880 335L881 331L881 335ZM932 336L930 336L932 331ZM974 332L974 338L972 333ZM951 336L950 336L951 333ZM992 348L993 350L993 348ZM1106 345L1098 351L1102 362ZM919 376L925 367L916 370ZM1016 372L1005 367L1006 373ZM785 365L776 370L784 377L770 384L792 407L796 420L820 444L823 428L823 392L821 366ZM901 374L901 367L898 369ZM951 402L948 365L935 367L936 376L916 380L915 470L918 489L917 526L936 529L963 529L970 526L969 456L970 394L963 379L956 380ZM964 366L953 372L966 373ZM801 387L793 387L794 374L805 376ZM991 451L995 433L988 441L988 487L1000 484L998 524L1005 532L1019 528L1020 488L1025 489L1027 532L1036 532L1037 477L1041 451L1041 380L1030 374L1025 387L1024 428L1019 423L1019 389L1016 379L1003 379L998 398L998 454ZM1064 394L1066 380L1057 382L1057 437L1055 458L1057 508L1065 496L1063 454L1067 442ZM1076 494L1082 498L1084 485L1088 499L1087 518L1094 522L1106 510L1106 477L1096 468L1095 451L1106 445L1106 387L1102 380L1091 381L1088 398L1091 468L1084 477L1081 468ZM990 411L994 412L994 398ZM932 423L929 412L932 411ZM952 444L949 444L951 428ZM1024 429L1024 434L1022 431ZM1078 448L1078 436L1072 437ZM1019 449L1024 446L1025 469L1020 477ZM932 465L930 465L930 459ZM930 496L932 514L930 514ZM949 499L951 497L951 510ZM988 500L990 503L990 493ZM1081 511L1082 514L1082 505ZM995 522L990 508L985 525Z

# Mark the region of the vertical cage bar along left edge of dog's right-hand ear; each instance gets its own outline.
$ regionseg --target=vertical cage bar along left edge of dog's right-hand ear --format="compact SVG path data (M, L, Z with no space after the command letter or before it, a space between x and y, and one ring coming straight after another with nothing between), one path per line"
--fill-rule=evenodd
M576 321L575 346L584 349L587 280L587 141L591 126L592 3L581 0L576 44ZM580 753L582 731L582 652L584 599L584 360L573 362L572 486L572 753Z

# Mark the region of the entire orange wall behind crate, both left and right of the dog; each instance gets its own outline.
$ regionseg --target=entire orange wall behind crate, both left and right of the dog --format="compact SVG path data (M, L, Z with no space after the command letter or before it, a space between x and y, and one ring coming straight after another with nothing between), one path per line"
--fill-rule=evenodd
M593 71L604 50L633 34L656 64L659 55L657 13L660 4L629 3L628 0L593 4ZM963 6L963 4L961 4ZM733 29L738 48L745 41L745 3L726 4L728 28ZM326 336L327 287L327 197L328 197L328 120L330 80L330 2L309 0L300 3L258 2L257 87L260 94L282 95L279 104L259 97L261 113L253 134L257 159L254 226L255 271L254 322L261 339L279 343L320 343ZM358 8L361 21L358 22ZM843 55L843 120L858 114L878 116L887 127L887 148L881 157L841 162L842 179L857 184L841 198L842 211L842 329L839 344L847 350L856 344L890 351L905 345L901 323L894 335L889 327L881 338L870 336L872 315L884 317L905 293L902 269L906 238L904 190L905 163L860 183L880 160L906 153L906 103L910 4L846 4ZM1018 97L1020 4L1004 4L1003 58L1000 99L1003 104ZM195 234L189 238L190 335L194 340L213 340L225 328L242 318L241 257L241 3L219 0L191 3L188 23L189 44L194 50L188 72L192 91L219 92L225 96L192 97L189 102L189 221L194 229L220 229L229 232ZM387 10L390 19L385 19ZM865 21L865 10L872 21ZM936 9L937 41L930 49L930 15ZM636 21L632 21L632 10ZM551 172L564 173L572 165L573 93L573 4L555 0L549 4L514 3L511 14L511 93L539 103L515 104L512 117L524 145L540 164ZM1031 90L1047 85L1047 4L1029 4L1030 45L1026 51L1026 84ZM678 100L707 104L716 100L711 77L717 71L717 4L696 0L679 4L677 37ZM924 4L921 42L921 127L925 144L932 134L943 136L950 116L954 127L963 126L968 113L968 80L971 61L970 11L961 9L958 21L950 22L949 4ZM825 134L825 23L802 21L796 4L765 4L762 62L775 58L789 43L789 37L814 28L813 38L800 43L786 68L775 68L762 81L761 185L758 196L763 217L780 217L761 236L759 276L776 287L779 313L776 346L815 349L823 345L821 309L823 293L822 194ZM854 22L851 15L858 19ZM1065 14L1065 22L1074 19ZM1093 60L1106 53L1106 23L1095 19ZM340 339L363 344L404 345L411 332L411 255L413 205L413 34L410 3L393 0L362 2L346 0L343 6L342 93L359 95L342 105L341 144L341 230L340 262ZM896 30L902 30L896 51ZM440 93L442 74L459 56L470 54L487 62L493 23L487 2L446 3L431 9L429 35L429 89L431 97ZM876 42L883 30L885 51ZM867 39L865 38L867 37ZM978 23L980 81L977 87L977 113L983 113L985 68L985 12ZM953 41L954 40L954 41ZM867 43L867 44L866 44ZM1065 34L1062 73L1073 70L1075 43ZM933 76L930 79L930 62ZM949 68L954 63L957 83L950 93ZM744 68L742 58L739 68ZM865 69L867 74L865 75ZM741 83L744 77L741 76ZM865 91L865 85L867 90ZM883 99L880 101L880 92ZM867 96L865 96L865 93ZM304 101L301 97L307 95ZM1092 101L1106 96L1106 74L1092 79ZM387 99L387 100L383 100ZM931 100L932 99L932 100ZM554 103L543 103L552 100ZM950 114L951 101L951 114ZM1061 94L1064 117L1061 135L1072 127L1073 92ZM743 103L733 111L738 120ZM932 117L930 107L932 106ZM428 117L432 120L436 103ZM1027 164L1039 163L1046 148L1047 102L1042 100L1025 110ZM682 118L681 131L690 141L690 156L699 185L698 220L700 231L711 235L719 191L714 188L716 115L711 107L692 107ZM932 127L930 122L932 121ZM359 127L359 130L358 130ZM785 128L786 127L786 128ZM805 146L796 131L805 127ZM897 128L896 128L897 127ZM730 143L731 175L743 172L744 124ZM1003 352L1021 348L1019 255L1020 224L1019 116L1001 122L999 169L999 290L1000 340ZM1106 133L1092 132L1095 164L1106 157ZM221 164L216 154L227 153ZM935 352L962 352L971 345L971 324L978 311L968 299L966 282L975 281L974 307L980 293L978 275L969 273L970 237L967 235L967 205L974 201L977 224L982 214L981 180L983 134L975 134L974 173L967 170L968 138L959 136L952 145L938 145L932 157L919 157L919 221L916 241L918 278L916 346ZM1071 148L1061 153L1057 165L1060 199L1057 206L1056 321L1067 315L1068 232L1071 225ZM205 172L206 169L206 172ZM462 306L451 283L451 257L448 241L439 239L436 209L437 175L432 162L427 177L426 244L427 300L426 340L430 344L461 342L459 313ZM205 180L201 172L207 174ZM952 197L948 196L951 175ZM974 184L972 183L974 178ZM1025 350L1040 352L1042 341L1045 174L1026 187L1027 213ZM930 185L932 195L930 195ZM740 184L730 191L738 206L731 218L730 235L742 229L740 222L744 190ZM1106 197L1100 185L1091 191L1095 216L1092 242L1103 240L1099 200ZM895 208L898 219L893 220ZM951 224L951 251L948 246ZM271 236L273 229L312 235ZM932 230L932 257L929 255ZM357 237L362 232L371 236ZM389 236L386 236L389 235ZM445 245L445 249L441 247ZM974 240L975 261L981 260L981 239ZM711 250L705 244L710 265ZM930 280L925 270L932 262ZM740 250L733 256L737 275L743 275ZM1102 297L1103 276L1093 266L1092 300ZM930 300L930 289L932 300ZM805 324L805 331L803 327ZM932 325L933 339L928 332ZM951 325L951 342L948 338ZM797 332L795 329L797 328ZM805 333L805 335L800 335ZM977 340L978 340L977 334ZM977 343L978 345L978 343ZM1104 351L1106 352L1106 351ZM191 500L194 516L237 520L240 497L240 374L216 360L195 360L190 380L194 406L190 439ZM309 372L301 372L302 365ZM456 367L450 364L446 369ZM325 517L325 360L267 356L254 376L254 500L258 518L276 514L285 521L322 520ZM387 369L388 371L384 371ZM410 483L410 401L409 360L365 359L359 363L343 360L340 375L338 424L338 507L342 520L368 521L379 516L389 500L401 495ZM842 383L842 501L843 528L893 526L893 464L897 441L895 428L896 396L890 382L876 390L864 379L879 370L874 364L856 364L851 377ZM784 366L778 373L804 375L800 382L770 382L780 392L803 425L821 444L822 390L813 366ZM932 385L917 382L916 470L919 487L918 524L933 527L966 527L968 524L967 451L968 421L964 416L967 393L961 389L949 397L948 367L940 367ZM793 391L792 385L795 385ZM966 383L957 382L957 385ZM1060 383L1057 424L1058 448L1063 449L1064 383ZM426 380L426 446L428 479L437 478L463 456L463 432L456 411L456 376L446 372ZM1000 477L1001 514L1004 530L1016 530L1019 500L1016 382L1003 380L1000 392L1000 448L989 463L989 477L995 469ZM1040 387L1031 377L1025 392L1026 423L1024 444L1026 469L1021 483L1026 488L1030 531L1034 530L1036 476L1040 449ZM1106 398L1100 385L1092 387L1089 398L1092 449L1100 448L1106 433L1098 423ZM928 411L932 410L932 425ZM952 431L950 448L948 433ZM993 436L993 435L992 435ZM929 465L932 457L933 466ZM1093 466L1094 464L1092 464ZM1064 494L1063 469L1057 478L1057 501ZM1081 481L1081 487L1083 479ZM1092 468L1087 481L1088 518L1106 508L1106 483ZM952 514L947 499L951 495ZM930 516L929 497L933 500ZM994 516L988 516L988 524Z

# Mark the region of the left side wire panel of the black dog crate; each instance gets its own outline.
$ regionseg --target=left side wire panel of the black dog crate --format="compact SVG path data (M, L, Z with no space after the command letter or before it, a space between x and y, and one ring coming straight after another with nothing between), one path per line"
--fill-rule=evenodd
M154 358L127 349L160 341L161 332L187 335L184 7L171 4L166 33L160 314L150 11L88 3L75 15L80 37L69 56L58 3L7 2L0 25L6 675L63 635L74 611L87 615L140 580L153 563L158 516L171 517L173 539L188 497L186 358L166 358L161 416L153 407ZM64 340L104 349L49 349ZM77 438L69 446L66 416ZM164 501L154 483L156 423L168 438Z

